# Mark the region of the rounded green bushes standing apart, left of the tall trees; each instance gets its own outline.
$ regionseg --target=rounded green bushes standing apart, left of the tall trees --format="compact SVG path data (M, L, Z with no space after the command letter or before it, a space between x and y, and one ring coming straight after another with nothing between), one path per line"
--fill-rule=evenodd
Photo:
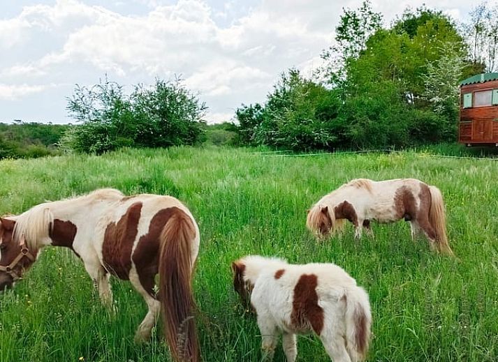
M135 86L131 95L107 78L91 88L76 86L68 111L78 123L64 146L103 153L123 146L168 147L200 141L206 107L180 80Z

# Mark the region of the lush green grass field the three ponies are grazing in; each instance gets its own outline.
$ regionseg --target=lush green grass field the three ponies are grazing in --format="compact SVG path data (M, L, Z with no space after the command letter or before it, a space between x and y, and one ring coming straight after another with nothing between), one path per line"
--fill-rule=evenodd
M374 225L375 239L318 244L306 209L353 178L416 177L446 199L457 257L413 243L409 225ZM291 262L335 262L369 292L374 338L369 361L497 361L498 162L416 153L268 157L243 149L125 150L0 162L0 214L99 187L180 198L198 220L195 276L204 361L260 361L256 321L232 290L230 262L277 255ZM113 281L119 312L98 301L82 263L45 248L14 290L0 296L1 361L169 361L156 331L133 334L145 315L129 282ZM275 361L284 361L281 347ZM327 361L316 338L301 337L298 361Z

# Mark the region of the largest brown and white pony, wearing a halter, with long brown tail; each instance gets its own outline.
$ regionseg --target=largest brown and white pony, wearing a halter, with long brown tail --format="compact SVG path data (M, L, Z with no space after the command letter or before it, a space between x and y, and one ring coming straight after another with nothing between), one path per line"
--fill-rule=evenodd
M136 340L150 338L162 310L173 359L200 360L191 284L199 229L180 201L101 189L39 204L0 221L1 289L11 287L44 246L66 246L82 259L106 306L112 307L111 274L130 280L143 296L149 311ZM158 273L156 295L154 277Z

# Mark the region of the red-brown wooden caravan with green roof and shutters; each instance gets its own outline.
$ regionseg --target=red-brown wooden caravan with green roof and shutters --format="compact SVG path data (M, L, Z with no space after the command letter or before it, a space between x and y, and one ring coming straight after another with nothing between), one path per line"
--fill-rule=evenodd
M460 83L458 142L498 146L498 73L474 75Z

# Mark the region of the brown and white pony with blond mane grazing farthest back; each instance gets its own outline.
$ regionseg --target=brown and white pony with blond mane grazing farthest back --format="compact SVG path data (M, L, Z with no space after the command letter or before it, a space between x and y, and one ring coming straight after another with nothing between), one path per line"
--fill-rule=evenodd
M453 255L446 236L441 191L417 179L349 181L316 202L308 211L306 224L323 237L339 231L344 220L349 220L356 229L356 238L360 238L362 227L372 234L372 220L391 223L401 219L409 221L412 239L422 231L432 248Z

